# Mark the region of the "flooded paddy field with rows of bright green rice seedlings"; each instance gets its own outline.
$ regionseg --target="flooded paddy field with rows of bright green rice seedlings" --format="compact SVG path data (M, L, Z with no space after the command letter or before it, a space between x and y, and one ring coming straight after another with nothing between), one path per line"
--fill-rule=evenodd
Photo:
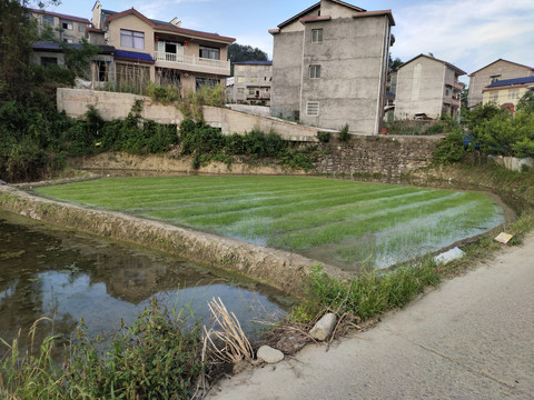
M287 249L349 271L437 251L505 221L481 192L307 177L105 178L36 191Z

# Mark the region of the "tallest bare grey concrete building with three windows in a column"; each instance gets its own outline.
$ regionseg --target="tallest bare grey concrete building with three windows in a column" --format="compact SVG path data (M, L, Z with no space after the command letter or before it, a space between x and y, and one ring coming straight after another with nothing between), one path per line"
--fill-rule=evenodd
M386 102L390 10L322 0L269 30L270 111L306 124L376 134Z

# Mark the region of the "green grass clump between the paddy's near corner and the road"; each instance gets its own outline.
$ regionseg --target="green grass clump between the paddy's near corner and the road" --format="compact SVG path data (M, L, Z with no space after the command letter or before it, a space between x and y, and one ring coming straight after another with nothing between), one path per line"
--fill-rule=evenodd
M383 274L360 272L347 281L328 276L322 267L314 267L307 280L308 300L294 311L294 316L305 319L330 309L339 314L352 312L365 321L407 304L426 287L438 282L439 274L431 261L402 266Z

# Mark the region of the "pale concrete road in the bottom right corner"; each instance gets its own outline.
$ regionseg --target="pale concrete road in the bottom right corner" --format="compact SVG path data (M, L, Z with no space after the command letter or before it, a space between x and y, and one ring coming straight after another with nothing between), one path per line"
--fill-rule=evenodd
M362 334L245 371L210 399L534 399L534 236Z

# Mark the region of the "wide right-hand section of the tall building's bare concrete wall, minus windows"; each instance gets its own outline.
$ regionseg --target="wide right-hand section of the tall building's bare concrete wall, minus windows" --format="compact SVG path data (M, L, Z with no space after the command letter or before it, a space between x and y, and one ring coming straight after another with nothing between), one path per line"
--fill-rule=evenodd
M387 19L338 18L307 23L305 29L300 120L306 124L377 133L382 120L383 51ZM323 42L312 43L312 29L323 29ZM320 66L320 79L309 78ZM319 116L306 116L308 101L319 102Z

